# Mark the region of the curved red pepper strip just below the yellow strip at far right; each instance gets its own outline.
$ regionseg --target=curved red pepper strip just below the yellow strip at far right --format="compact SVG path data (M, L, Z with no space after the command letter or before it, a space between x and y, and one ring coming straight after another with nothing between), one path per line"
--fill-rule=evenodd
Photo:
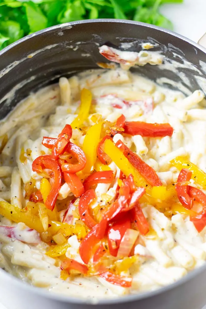
M182 203L182 205L187 209L191 209L194 202L194 198L190 197L188 194L189 186L187 184L184 184L190 181L191 176L192 172L187 170L186 168L183 168L179 173L177 184L175 187L180 203Z

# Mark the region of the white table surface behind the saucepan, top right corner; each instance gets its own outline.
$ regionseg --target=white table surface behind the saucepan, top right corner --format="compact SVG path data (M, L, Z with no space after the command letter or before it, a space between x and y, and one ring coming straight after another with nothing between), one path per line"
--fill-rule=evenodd
M161 12L173 22L175 32L195 42L206 32L206 0L184 0L183 4L166 4L161 8ZM0 303L0 309L6 307ZM203 309L206 309L206 306Z

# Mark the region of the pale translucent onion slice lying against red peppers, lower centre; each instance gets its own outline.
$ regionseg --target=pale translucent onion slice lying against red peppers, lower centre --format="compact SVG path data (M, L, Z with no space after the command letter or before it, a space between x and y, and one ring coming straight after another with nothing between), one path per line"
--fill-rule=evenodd
M132 229L127 229L126 232L124 233L124 236L120 242L120 247L119 250L117 252L117 256L118 257L125 257L125 256L129 256L135 242L136 239L139 235L139 232L136 230L132 230Z

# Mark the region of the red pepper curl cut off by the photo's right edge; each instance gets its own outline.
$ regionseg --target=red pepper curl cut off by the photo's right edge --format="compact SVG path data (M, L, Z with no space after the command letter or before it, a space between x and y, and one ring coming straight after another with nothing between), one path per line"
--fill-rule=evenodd
M206 226L206 195L198 188L188 186L188 195L194 198L195 201L200 203L203 207L202 212L197 216L190 216L190 221L192 221L196 227L196 230L200 233Z

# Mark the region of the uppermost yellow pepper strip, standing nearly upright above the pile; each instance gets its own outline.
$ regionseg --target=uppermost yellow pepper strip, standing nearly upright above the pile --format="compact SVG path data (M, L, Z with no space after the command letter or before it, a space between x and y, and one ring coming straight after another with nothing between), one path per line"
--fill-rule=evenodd
M86 88L83 88L81 91L80 111L78 116L71 123L72 129L79 128L83 124L83 122L88 118L91 101L92 101L91 91Z

